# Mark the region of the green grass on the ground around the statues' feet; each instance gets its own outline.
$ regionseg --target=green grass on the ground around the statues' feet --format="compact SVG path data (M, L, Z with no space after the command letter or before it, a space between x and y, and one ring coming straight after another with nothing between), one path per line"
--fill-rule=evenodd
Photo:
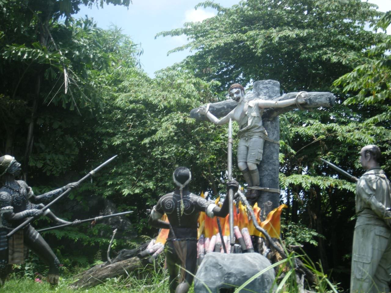
M312 261L305 255L296 255L294 253L288 254L287 259L283 259L278 263L275 263L268 268L264 269L262 272L259 272L252 278L250 278L245 284L236 288L235 292L246 292L243 288L255 279L258 275L262 274L268 269L274 269L275 266L279 266L279 272L276 277L279 277L279 282L274 284L275 293L296 293L299 292L299 286L296 280L296 274L293 270L294 267L294 258L300 257L305 265L314 273L316 276L316 284L310 290L317 293L338 293L340 290L336 285L332 284L328 279L328 276L322 271L321 266L315 265ZM316 269L318 267L319 269ZM106 280L103 284L98 286L88 288L88 289L69 289L68 286L74 282L71 272L68 271L68 274L63 272L63 277L60 277L59 285L56 288L51 288L50 285L43 280L42 282L35 282L34 278L31 276L22 276L18 273L11 274L11 278L5 282L4 286L0 288L1 292L12 292L12 293L45 293L45 292L61 292L61 293L79 293L79 292L88 292L88 293L116 293L116 292L127 292L127 293L161 293L169 291L168 284L168 275L167 273L159 269L158 272L154 270L146 270L145 274L147 277L142 279L137 279L135 276L130 275L127 278L112 278ZM67 276L66 276L67 275ZM75 275L75 274L74 274ZM43 278L45 279L45 278ZM277 279L276 279L277 280ZM248 291L247 291L248 292ZM189 293L194 293L194 287L192 286L189 290Z

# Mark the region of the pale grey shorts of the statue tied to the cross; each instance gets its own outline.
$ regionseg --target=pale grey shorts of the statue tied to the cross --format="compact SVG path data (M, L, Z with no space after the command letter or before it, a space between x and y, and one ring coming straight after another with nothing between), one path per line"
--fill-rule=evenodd
M264 139L262 138L241 138L238 144L238 163L246 162L259 164L264 153Z

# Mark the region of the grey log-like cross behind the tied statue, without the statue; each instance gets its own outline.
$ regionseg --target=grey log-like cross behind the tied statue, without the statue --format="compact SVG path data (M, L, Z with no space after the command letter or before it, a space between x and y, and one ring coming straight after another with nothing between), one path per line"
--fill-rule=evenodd
M254 82L253 94L246 99L254 100L262 98L264 100L288 100L295 98L298 93L287 93L280 96L280 82L276 80L259 80ZM331 107L335 104L335 96L329 92L303 92L301 94L307 99L305 104L300 106L303 109L313 109L318 107ZM221 118L228 114L236 107L237 103L233 100L226 100L223 102L210 104L209 111L217 118ZM284 108L266 108L262 114L262 124L265 127L268 137L274 141L280 141L280 120L279 114L285 113L292 109L296 109L296 105L291 105ZM206 121L204 115L199 114L199 108L190 111L190 117L199 121ZM280 184L278 180L279 172L279 145L270 141L264 143L264 155L262 161L258 165L260 176L260 186L262 188L279 189ZM262 220L265 219L270 211L278 207L280 201L280 194L270 191L261 191L258 198L258 207L262 211Z

